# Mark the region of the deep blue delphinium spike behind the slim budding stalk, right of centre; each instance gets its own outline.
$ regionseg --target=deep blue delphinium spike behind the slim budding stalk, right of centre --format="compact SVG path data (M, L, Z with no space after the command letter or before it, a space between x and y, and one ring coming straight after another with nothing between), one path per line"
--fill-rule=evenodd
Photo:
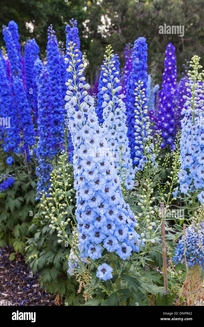
M131 149L131 158L134 163L136 157L135 151L135 83L138 81L143 82L143 87L146 90L147 87L147 43L146 39L139 37L133 48L133 61L132 71L127 84L126 105L127 122L128 122L128 138ZM145 104L144 104L145 105Z

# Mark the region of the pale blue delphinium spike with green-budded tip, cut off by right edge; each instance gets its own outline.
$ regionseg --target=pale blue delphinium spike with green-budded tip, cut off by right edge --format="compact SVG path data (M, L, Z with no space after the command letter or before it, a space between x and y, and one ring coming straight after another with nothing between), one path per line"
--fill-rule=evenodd
M192 71L188 72L189 81L186 82L190 96L184 95L186 102L181 114L180 156L181 172L178 173L181 193L189 190L196 191L197 198L204 203L204 115L203 115L203 73L199 73L202 66L200 57L193 56L190 61ZM195 195L195 192L194 192ZM194 198L195 202L195 198Z

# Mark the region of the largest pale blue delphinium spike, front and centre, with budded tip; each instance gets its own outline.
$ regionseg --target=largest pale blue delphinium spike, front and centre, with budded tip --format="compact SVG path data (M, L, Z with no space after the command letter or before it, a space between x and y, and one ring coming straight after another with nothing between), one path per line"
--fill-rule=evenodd
M67 82L72 88L65 96L65 108L74 145L78 247L82 257L100 258L105 248L125 260L132 250L139 250L141 239L134 230L134 214L122 197L117 172L105 151L108 145L98 123L94 99L85 91L90 85L76 83L83 64L76 57L75 45L70 42L67 52L73 78ZM79 64L77 70L75 61ZM85 97L81 101L82 96Z

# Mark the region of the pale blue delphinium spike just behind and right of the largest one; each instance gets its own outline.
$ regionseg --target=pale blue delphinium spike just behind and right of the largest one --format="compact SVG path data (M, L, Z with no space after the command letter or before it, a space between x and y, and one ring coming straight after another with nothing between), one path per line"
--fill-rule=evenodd
M135 172L132 168L130 158L129 141L127 138L126 127L126 108L122 101L123 94L119 95L122 87L120 86L120 69L117 55L111 50L111 45L106 47L103 72L104 94L103 94L103 135L107 141L112 155L115 168L118 171L121 185L126 189L134 186Z

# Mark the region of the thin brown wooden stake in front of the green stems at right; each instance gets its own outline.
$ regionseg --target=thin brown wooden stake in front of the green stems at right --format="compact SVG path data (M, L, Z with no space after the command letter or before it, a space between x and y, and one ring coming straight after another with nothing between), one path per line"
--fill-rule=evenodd
M164 216L164 202L160 202L161 210L161 242L162 242L162 258L164 267L164 292L168 293L168 278L167 278L167 262L166 262L166 242L165 242L165 216Z

